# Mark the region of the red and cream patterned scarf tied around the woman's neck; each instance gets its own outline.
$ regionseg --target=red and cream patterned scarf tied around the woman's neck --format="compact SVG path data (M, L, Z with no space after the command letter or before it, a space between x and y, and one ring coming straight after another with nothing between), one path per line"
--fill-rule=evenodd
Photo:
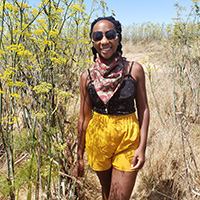
M108 103L122 83L125 67L122 56L118 55L109 64L97 57L92 70L95 90L104 104Z

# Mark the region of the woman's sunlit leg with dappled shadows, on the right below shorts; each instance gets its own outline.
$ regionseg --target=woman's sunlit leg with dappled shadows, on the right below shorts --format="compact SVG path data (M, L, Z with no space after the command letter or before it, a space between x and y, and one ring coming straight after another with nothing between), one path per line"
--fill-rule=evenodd
M135 185L136 176L137 171L124 172L113 168L108 199L129 200Z

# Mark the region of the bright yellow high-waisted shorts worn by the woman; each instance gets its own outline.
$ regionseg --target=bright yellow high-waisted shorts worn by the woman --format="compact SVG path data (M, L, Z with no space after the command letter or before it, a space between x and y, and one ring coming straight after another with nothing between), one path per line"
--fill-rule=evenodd
M113 166L121 171L132 171L131 162L139 140L139 123L135 113L115 116L94 112L85 138L91 168L104 171Z

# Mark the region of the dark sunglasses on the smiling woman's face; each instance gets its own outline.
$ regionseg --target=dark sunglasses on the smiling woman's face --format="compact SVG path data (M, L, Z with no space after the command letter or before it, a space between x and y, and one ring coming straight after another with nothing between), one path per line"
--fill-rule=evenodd
M117 38L118 33L115 30L106 31L105 34L102 33L101 31L95 31L92 34L92 41L93 42L100 41L100 40L102 40L102 38L103 38L104 35L106 36L106 38L108 40L113 40L113 39Z

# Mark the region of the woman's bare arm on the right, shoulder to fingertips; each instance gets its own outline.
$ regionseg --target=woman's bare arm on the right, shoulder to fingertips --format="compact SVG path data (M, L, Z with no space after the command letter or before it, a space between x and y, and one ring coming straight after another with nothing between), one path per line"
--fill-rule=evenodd
M131 169L141 169L145 162L145 150L149 127L149 106L145 87L145 73L143 67L135 62L132 75L137 81L136 107L140 125L140 144L134 153Z

